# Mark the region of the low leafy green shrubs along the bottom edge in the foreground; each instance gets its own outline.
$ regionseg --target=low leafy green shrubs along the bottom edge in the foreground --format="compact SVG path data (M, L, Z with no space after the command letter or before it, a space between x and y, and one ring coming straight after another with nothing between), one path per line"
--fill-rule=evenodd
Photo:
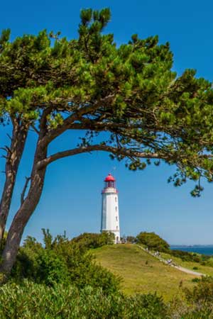
M55 285L48 287L23 281L0 287L0 318L43 319L160 319L167 318L167 307L156 294L104 295L102 289Z

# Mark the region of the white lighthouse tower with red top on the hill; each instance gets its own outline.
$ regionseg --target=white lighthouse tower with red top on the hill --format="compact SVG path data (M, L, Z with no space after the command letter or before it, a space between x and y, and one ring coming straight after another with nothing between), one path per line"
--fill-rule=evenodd
M120 242L119 226L119 196L116 190L114 177L109 174L104 179L105 186L102 191L102 229L115 235L115 243Z

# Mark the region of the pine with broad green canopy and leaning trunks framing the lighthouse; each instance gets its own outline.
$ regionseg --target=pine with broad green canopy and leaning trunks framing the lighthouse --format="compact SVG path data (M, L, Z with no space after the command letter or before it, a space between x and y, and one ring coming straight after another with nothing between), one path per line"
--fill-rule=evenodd
M178 76L170 45L158 43L158 36L132 35L116 45L114 35L103 33L109 9L82 10L80 18L78 38L72 40L47 30L14 40L9 30L1 33L1 123L11 123L12 132L11 145L4 147L0 239L28 130L38 135L31 176L9 228L3 272L16 258L48 164L62 157L104 151L132 170L152 162L175 164L169 181L175 186L197 181L192 196L200 196L202 177L212 181L212 84L197 78L194 69ZM49 154L50 143L66 130L82 130L84 137L73 149Z

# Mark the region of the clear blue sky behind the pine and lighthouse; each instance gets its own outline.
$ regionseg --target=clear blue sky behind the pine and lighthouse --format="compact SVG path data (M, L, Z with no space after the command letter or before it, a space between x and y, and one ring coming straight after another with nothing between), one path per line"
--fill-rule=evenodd
M198 76L212 81L213 3L210 0L11 0L1 4L0 30L11 28L14 38L47 28L60 30L67 38L76 38L80 9L106 6L111 9L106 32L114 33L118 45L128 42L133 33L141 38L157 34L160 43L170 42L173 68L178 74L185 68L195 68ZM1 128L1 137L4 130ZM74 140L77 140L76 133L66 134L55 141L51 151L65 149ZM9 141L2 137L1 143L6 142ZM31 170L33 142L35 136L31 134L18 172L11 216L19 206L24 177ZM2 159L0 164L3 167ZM66 230L69 237L99 232L103 179L111 172L119 189L121 235L136 235L146 230L155 231L170 244L213 244L213 184L204 184L202 197L192 198L192 183L178 189L167 183L174 171L175 167L161 164L143 172L129 172L123 163L111 161L103 153L61 159L48 169L43 196L24 236L33 235L40 240L41 228L50 228L53 235ZM1 174L0 189L3 183Z

